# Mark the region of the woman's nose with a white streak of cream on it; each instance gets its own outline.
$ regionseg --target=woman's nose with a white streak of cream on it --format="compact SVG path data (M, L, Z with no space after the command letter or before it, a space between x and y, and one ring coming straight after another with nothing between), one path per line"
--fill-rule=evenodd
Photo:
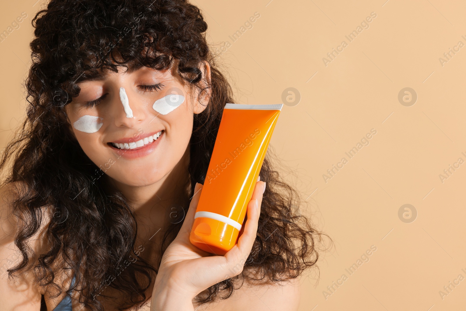
M115 125L133 128L140 124L145 118L144 107L140 102L138 94L132 92L130 88L119 88L112 103Z

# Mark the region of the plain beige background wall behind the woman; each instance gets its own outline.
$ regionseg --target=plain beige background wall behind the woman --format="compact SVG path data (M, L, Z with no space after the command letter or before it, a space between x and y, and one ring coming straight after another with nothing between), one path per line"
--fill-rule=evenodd
M30 20L45 3L35 1L2 3L0 30L21 12L28 17L0 43L1 146L24 115ZM466 281L439 294L466 277L466 164L439 178L466 160L466 47L439 61L458 41L466 44L466 4L384 1L193 1L238 103L281 103L288 87L301 95L284 106L271 145L295 171L288 178L308 202L303 213L335 242L318 262L319 282L315 272L301 280L302 311L463 310L466 303ZM260 18L233 42L229 36L254 12ZM371 12L370 27L349 42L345 35ZM325 66L322 58L343 40L348 46ZM409 107L397 98L405 87L418 95ZM345 152L371 129L370 144L349 159ZM348 163L325 182L322 174L343 157ZM415 221L398 217L404 204L417 210ZM370 261L349 275L345 269L371 245ZM322 291L342 274L348 279L325 299Z

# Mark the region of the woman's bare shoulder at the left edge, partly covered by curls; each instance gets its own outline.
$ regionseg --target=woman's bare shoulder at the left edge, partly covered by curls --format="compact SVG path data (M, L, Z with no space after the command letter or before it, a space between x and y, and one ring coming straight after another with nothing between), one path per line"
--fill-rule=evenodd
M33 273L26 272L9 278L7 272L22 259L21 252L14 243L20 220L13 213L13 202L18 198L19 192L25 189L24 184L17 182L0 187L0 304L5 310L39 310L41 303L41 294L34 285ZM44 247L41 231L28 243L34 251L41 251Z

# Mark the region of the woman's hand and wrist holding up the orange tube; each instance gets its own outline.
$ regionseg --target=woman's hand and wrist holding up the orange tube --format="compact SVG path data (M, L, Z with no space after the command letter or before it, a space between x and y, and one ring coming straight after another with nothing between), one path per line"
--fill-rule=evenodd
M185 221L162 257L152 292L151 311L193 310L192 299L200 292L242 272L256 238L266 186L259 180L247 205L247 221L241 228L238 243L224 256L198 249L189 241L203 187L196 183Z

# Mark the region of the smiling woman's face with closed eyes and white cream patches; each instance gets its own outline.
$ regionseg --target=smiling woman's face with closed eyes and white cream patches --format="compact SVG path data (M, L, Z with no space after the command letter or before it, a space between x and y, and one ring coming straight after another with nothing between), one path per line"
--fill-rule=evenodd
M154 184L171 172L185 154L193 114L208 102L199 102L196 89L184 86L172 69L119 67L79 86L79 96L65 107L71 130L102 169L96 179L106 173L130 186Z

